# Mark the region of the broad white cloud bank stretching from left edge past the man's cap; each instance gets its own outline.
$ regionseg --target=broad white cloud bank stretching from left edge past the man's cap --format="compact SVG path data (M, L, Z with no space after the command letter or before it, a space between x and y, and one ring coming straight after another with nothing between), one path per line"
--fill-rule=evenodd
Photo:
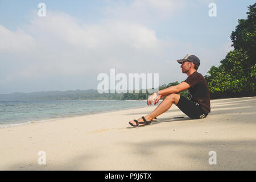
M160 84L168 84L186 77L176 59L187 53L199 56L199 71L209 70L229 46L195 47L174 35L159 39L143 23L168 18L185 6L185 1L123 1L109 5L108 16L97 24L47 11L42 18L35 12L18 31L0 25L0 93L96 88L97 75L109 74L110 68L160 73Z

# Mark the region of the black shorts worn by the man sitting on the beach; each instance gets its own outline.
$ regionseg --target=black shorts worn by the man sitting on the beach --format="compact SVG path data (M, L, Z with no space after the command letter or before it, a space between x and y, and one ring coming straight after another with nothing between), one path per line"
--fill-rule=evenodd
M195 101L188 100L180 96L180 100L176 105L183 113L187 114L191 119L201 119L207 117L207 114L201 109L200 105Z

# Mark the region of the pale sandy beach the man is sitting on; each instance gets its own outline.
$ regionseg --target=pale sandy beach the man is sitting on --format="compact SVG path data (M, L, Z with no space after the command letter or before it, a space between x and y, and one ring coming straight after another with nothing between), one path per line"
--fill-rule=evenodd
M146 102L145 102L146 106ZM154 107L0 129L1 170L255 170L256 97L211 101L205 119L175 105L149 126ZM174 119L174 117L185 116ZM38 164L39 151L46 165ZM210 165L209 151L217 164Z

